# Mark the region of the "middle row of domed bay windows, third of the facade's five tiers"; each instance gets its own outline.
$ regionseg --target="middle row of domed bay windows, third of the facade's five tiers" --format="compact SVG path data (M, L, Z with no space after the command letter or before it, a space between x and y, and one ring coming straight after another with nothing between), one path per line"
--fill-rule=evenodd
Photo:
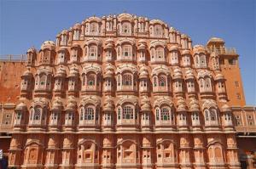
M89 68L88 68L89 69ZM96 70L95 70L96 69ZM117 91L141 91L149 92L150 88L153 92L174 92L174 93L225 93L224 78L212 79L209 74L197 76L197 80L193 74L188 78L183 79L181 75L174 72L173 77L168 70L154 69L151 78L147 70L142 70L137 75L137 70L107 70L103 76L100 68L92 68L91 70L84 70L79 76L79 70L73 72L70 70L69 76L63 70L56 72L53 77L49 71L40 71L35 75L32 73L26 74L21 77L21 91L31 92L34 88L35 91L51 91L64 92L68 91L94 91L94 92L113 92L114 88ZM116 74L116 75L114 75ZM34 84L34 85L33 85Z

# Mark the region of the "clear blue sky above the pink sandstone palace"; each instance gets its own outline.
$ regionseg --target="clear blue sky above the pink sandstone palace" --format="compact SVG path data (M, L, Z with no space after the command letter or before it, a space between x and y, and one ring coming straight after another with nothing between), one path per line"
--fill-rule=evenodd
M139 1L7 1L1 5L0 54L25 54L32 46L87 17L127 13L164 20L189 35L193 45L221 37L240 54L247 104L256 105L255 1L139 0Z

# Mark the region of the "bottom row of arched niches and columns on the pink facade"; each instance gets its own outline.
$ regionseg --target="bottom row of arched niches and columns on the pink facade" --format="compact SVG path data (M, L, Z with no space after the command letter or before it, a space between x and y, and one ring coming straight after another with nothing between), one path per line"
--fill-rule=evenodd
M150 143L150 141L149 141ZM152 143L153 144L153 143ZM112 149L109 149L112 148ZM116 149L113 149L116 148ZM9 165L73 165L83 166L86 164L130 164L141 163L156 166L169 164L186 164L194 162L195 165L224 166L224 163L238 164L235 149L227 150L224 144L216 140L207 144L206 149L183 148L171 139L157 141L153 147L143 146L132 139L118 141L116 145L105 147L104 144L90 139L79 139L79 143L69 149L62 149L60 154L57 146L48 149L37 141L30 141L24 147L24 156L18 161L20 150L13 149L9 155ZM23 153L23 152L22 152ZM230 155L232 154L232 155ZM21 155L21 154L20 154ZM59 156L61 155L61 158ZM45 158L44 158L45 156ZM76 156L76 158L73 158ZM15 158L16 163L15 163ZM234 160L234 161L232 161Z

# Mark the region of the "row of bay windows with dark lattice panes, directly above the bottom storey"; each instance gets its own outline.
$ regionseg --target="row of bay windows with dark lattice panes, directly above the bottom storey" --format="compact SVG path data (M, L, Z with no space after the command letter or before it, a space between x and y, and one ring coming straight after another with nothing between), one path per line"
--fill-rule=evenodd
M150 106L150 105L149 105ZM47 107L35 106L29 110L28 125L31 126L55 126L61 127L78 125L84 126L166 126L166 127L232 127L233 117L230 111L220 113L216 108L211 107L200 111L187 112L177 111L170 105L156 106L153 110L145 110L137 104L118 104L116 110L104 110L96 104L81 105L78 110L56 110ZM152 112L153 111L153 112ZM223 117L222 117L223 116ZM79 122L79 123L77 123ZM26 111L15 111L15 126L22 126L26 123Z

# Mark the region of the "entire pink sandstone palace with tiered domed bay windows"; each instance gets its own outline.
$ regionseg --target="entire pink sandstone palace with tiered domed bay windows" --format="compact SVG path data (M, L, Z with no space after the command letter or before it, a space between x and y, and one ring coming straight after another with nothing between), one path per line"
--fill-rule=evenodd
M0 62L9 167L256 167L256 113L235 48L161 20L96 16Z

